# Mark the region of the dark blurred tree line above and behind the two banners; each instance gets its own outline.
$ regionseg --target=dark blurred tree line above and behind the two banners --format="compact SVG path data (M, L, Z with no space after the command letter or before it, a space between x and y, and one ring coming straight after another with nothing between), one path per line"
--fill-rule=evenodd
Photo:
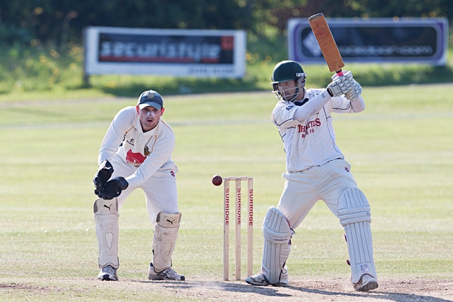
M256 37L285 34L289 18L453 20L451 0L18 0L0 2L0 45L80 43L88 26L242 29ZM0 46L1 47L1 46Z

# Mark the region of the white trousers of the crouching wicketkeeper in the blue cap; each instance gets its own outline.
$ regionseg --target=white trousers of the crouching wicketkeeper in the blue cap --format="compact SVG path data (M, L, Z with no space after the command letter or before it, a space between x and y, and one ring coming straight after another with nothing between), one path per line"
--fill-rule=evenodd
M113 175L112 178L122 176L126 178L132 175L137 168L125 163L119 156L112 159ZM177 213L178 210L178 191L176 190L176 174L178 167L173 162L168 162L159 168L150 178L139 186L144 191L148 216L152 225L156 223L156 216L160 211L166 213ZM127 187L123 190L118 199L118 208L121 209L127 197L137 187Z

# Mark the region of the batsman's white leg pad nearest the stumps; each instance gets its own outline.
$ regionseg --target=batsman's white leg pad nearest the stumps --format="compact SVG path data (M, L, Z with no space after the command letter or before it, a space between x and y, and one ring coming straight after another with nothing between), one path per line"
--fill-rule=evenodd
M262 269L270 284L278 284L282 269L291 250L293 231L285 215L275 207L270 207L263 221L263 262ZM286 269L285 269L286 272Z

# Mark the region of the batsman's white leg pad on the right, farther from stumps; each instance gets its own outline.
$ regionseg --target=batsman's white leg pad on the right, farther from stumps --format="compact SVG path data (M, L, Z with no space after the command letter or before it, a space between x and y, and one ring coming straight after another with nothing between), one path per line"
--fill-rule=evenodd
M338 199L338 217L345 228L351 265L351 282L363 274L377 277L373 259L371 214L365 194L357 187L346 189Z

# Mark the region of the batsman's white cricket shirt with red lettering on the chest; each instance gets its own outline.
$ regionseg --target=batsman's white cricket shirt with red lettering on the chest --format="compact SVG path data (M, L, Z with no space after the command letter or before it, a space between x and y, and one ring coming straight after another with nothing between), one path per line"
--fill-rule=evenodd
M280 100L275 105L270 120L277 126L282 138L288 172L302 171L336 158L344 158L336 144L331 112L360 112L365 109L365 103L362 97L357 98L353 101L353 108L350 100L343 96L329 98L326 95L326 89L307 89L304 97L309 100L306 104L297 106ZM316 102L320 105L312 110L312 104ZM304 106L311 106L312 112L308 111L302 121L295 120L296 110L305 110Z

